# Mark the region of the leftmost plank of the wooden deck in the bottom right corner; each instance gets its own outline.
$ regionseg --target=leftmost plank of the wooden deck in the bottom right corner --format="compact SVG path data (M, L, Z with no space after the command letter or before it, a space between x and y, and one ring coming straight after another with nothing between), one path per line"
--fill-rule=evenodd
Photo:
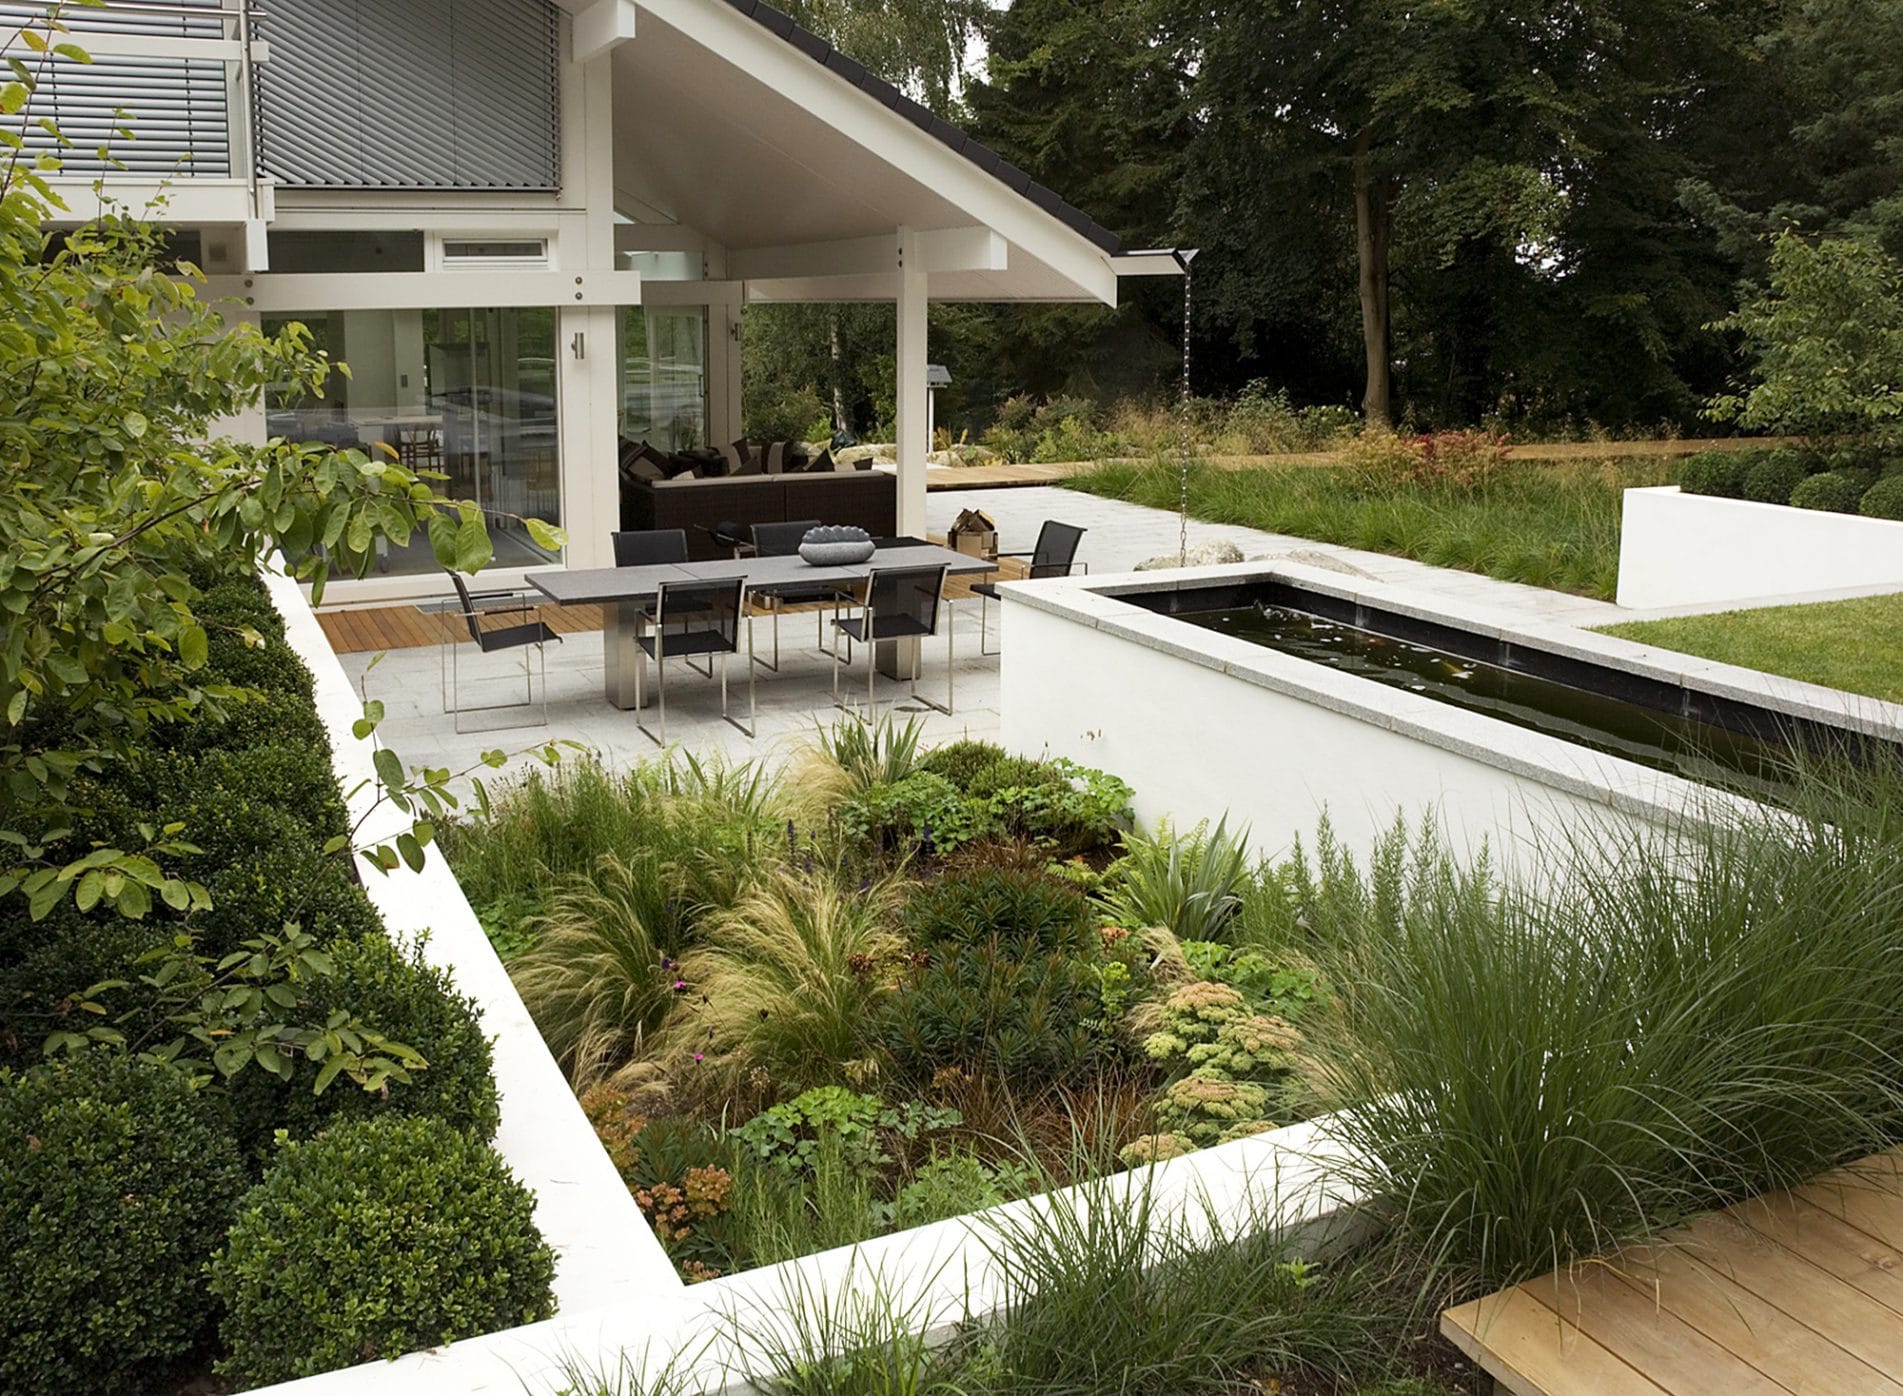
M1667 1396L1524 1289L1448 1309L1441 1333L1515 1396Z

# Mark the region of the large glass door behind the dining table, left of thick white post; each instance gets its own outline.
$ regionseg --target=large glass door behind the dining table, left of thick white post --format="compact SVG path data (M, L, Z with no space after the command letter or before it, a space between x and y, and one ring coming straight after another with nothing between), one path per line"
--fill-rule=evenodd
M489 519L495 567L554 561L521 519L561 523L561 417L556 392L556 312L333 310L266 316L265 329L299 320L318 348L350 365L322 399L272 396L268 430L295 441L354 445L443 475L438 489L474 500ZM384 546L377 571L428 572L428 540Z

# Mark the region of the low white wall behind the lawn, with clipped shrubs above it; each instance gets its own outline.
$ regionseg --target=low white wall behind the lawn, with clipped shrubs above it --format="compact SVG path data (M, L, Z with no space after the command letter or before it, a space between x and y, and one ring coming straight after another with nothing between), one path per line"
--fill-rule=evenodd
M1789 504L1625 491L1619 605L1768 601L1854 586L1903 588L1903 523Z

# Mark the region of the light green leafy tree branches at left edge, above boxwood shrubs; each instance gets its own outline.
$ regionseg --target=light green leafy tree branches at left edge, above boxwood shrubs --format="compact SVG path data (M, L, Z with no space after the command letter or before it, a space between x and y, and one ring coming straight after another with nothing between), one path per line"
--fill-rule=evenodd
M190 852L188 831L76 846L74 782L154 728L255 700L204 679L221 630L198 614L204 586L285 567L322 597L329 574L369 569L379 538L417 531L445 567L476 571L489 536L474 504L394 460L226 436L266 386L316 392L343 365L303 325L226 320L198 268L167 255L162 207L70 219L48 183L59 160L25 154L21 112L49 65L86 55L57 11L17 40L0 84L0 896L25 892L34 915L67 896L131 917L154 900L186 909L206 892L164 860Z

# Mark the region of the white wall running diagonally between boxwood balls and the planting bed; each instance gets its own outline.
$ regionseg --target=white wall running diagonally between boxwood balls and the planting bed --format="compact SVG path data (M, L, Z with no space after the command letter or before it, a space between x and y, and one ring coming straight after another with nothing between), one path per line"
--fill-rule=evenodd
M394 839L409 820L390 805L371 808L377 801L373 740L358 740L350 730L363 715L362 698L297 584L266 574L265 586L284 614L285 639L316 679L318 715L329 730L350 818L369 814L358 841ZM481 1008L483 1029L495 1038L495 1084L502 1097L495 1147L535 1189L535 1225L556 1250L556 1303L580 1310L677 1295L681 1280L674 1263L596 1139L441 852L430 848L421 873L403 869L379 877L367 863L358 867L390 934L403 943L424 936L424 959L449 970L457 989ZM354 1088L339 1080L331 1090Z

